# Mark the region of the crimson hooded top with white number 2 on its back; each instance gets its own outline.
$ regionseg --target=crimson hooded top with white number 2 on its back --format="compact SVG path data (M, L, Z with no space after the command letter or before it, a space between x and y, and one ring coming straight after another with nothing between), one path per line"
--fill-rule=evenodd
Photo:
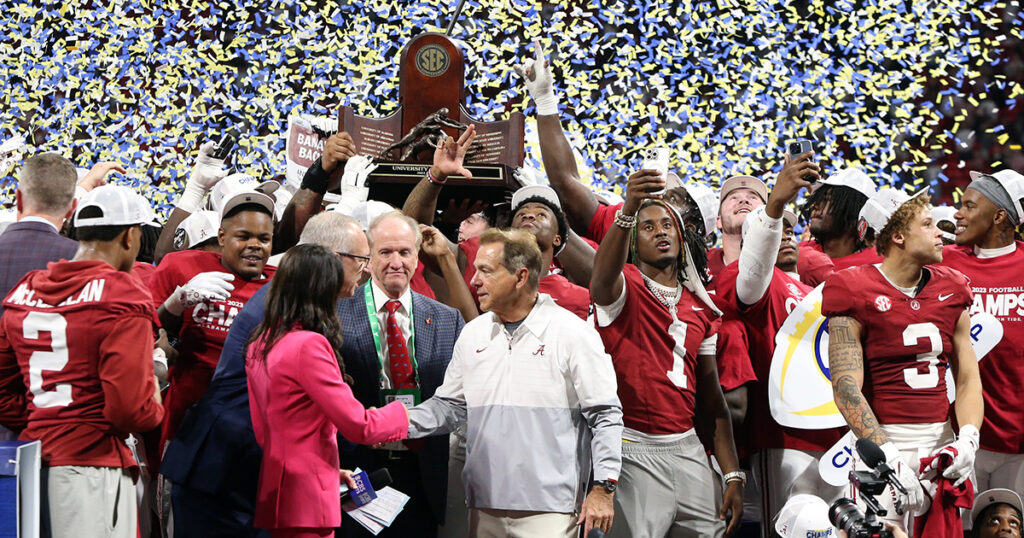
M0 318L0 421L23 413L20 439L41 441L49 466L134 467L123 440L164 414L153 320L148 290L103 261L28 274Z

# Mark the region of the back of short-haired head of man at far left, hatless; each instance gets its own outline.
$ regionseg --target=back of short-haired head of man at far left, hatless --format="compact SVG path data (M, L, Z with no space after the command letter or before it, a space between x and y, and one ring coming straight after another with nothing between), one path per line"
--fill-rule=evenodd
M71 161L53 153L30 158L17 178L18 209L23 214L63 217L75 199L78 172Z

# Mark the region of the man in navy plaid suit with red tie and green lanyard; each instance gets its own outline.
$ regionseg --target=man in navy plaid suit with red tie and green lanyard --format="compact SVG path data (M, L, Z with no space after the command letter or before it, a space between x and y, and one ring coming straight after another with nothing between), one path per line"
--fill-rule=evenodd
M398 400L412 407L433 396L444 380L465 322L458 311L410 289L421 242L415 220L399 211L385 213L371 223L369 236L371 280L338 301L345 371L362 405ZM387 467L392 486L410 496L378 536L437 536L437 526L444 523L447 454L447 436L342 450L342 467ZM346 515L338 536L371 534Z

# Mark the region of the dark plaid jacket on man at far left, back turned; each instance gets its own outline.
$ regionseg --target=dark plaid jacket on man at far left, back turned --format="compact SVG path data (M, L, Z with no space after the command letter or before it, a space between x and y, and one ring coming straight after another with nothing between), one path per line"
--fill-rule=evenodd
M71 259L78 242L53 231L46 222L14 222L0 235L0 315L3 298L29 272L51 261Z

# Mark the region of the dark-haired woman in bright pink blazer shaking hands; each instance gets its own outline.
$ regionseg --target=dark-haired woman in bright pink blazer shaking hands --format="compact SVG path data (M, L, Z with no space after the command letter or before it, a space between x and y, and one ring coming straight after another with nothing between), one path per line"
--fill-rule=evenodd
M293 247L249 340L249 409L263 449L254 525L273 538L333 536L341 525L337 433L372 445L409 430L400 403L367 410L346 382L336 314L343 284L333 252Z

